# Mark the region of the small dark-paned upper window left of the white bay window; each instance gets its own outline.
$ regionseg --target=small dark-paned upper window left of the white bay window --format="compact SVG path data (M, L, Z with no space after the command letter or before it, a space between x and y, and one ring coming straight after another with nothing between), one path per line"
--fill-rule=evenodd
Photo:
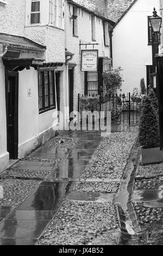
M40 23L40 1L32 0L30 11L30 23Z

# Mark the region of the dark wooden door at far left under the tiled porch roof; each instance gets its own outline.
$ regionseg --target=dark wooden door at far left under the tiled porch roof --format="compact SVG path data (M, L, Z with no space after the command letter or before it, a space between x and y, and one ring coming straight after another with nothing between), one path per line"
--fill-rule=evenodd
M6 74L7 150L10 159L18 157L18 72Z

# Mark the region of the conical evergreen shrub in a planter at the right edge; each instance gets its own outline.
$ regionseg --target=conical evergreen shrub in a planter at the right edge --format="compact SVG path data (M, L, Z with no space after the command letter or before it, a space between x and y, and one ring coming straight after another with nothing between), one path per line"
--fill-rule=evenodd
M139 126L140 145L144 149L159 147L159 120L152 101L149 96L144 96L141 104L140 126Z

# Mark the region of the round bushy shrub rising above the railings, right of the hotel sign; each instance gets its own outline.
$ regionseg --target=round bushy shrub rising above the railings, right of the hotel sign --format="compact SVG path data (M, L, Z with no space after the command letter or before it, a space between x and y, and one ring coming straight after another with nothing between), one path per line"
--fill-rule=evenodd
M117 69L108 69L103 72L103 80L106 94L116 93L122 86L121 67Z

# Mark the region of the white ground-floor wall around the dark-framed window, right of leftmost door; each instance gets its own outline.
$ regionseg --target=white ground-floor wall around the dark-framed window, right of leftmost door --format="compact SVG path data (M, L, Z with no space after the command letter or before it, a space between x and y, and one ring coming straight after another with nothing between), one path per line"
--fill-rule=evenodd
M22 158L55 135L56 109L39 114L38 73L34 68L19 72L18 158ZM30 88L31 96L28 96ZM56 95L56 94L55 94Z

